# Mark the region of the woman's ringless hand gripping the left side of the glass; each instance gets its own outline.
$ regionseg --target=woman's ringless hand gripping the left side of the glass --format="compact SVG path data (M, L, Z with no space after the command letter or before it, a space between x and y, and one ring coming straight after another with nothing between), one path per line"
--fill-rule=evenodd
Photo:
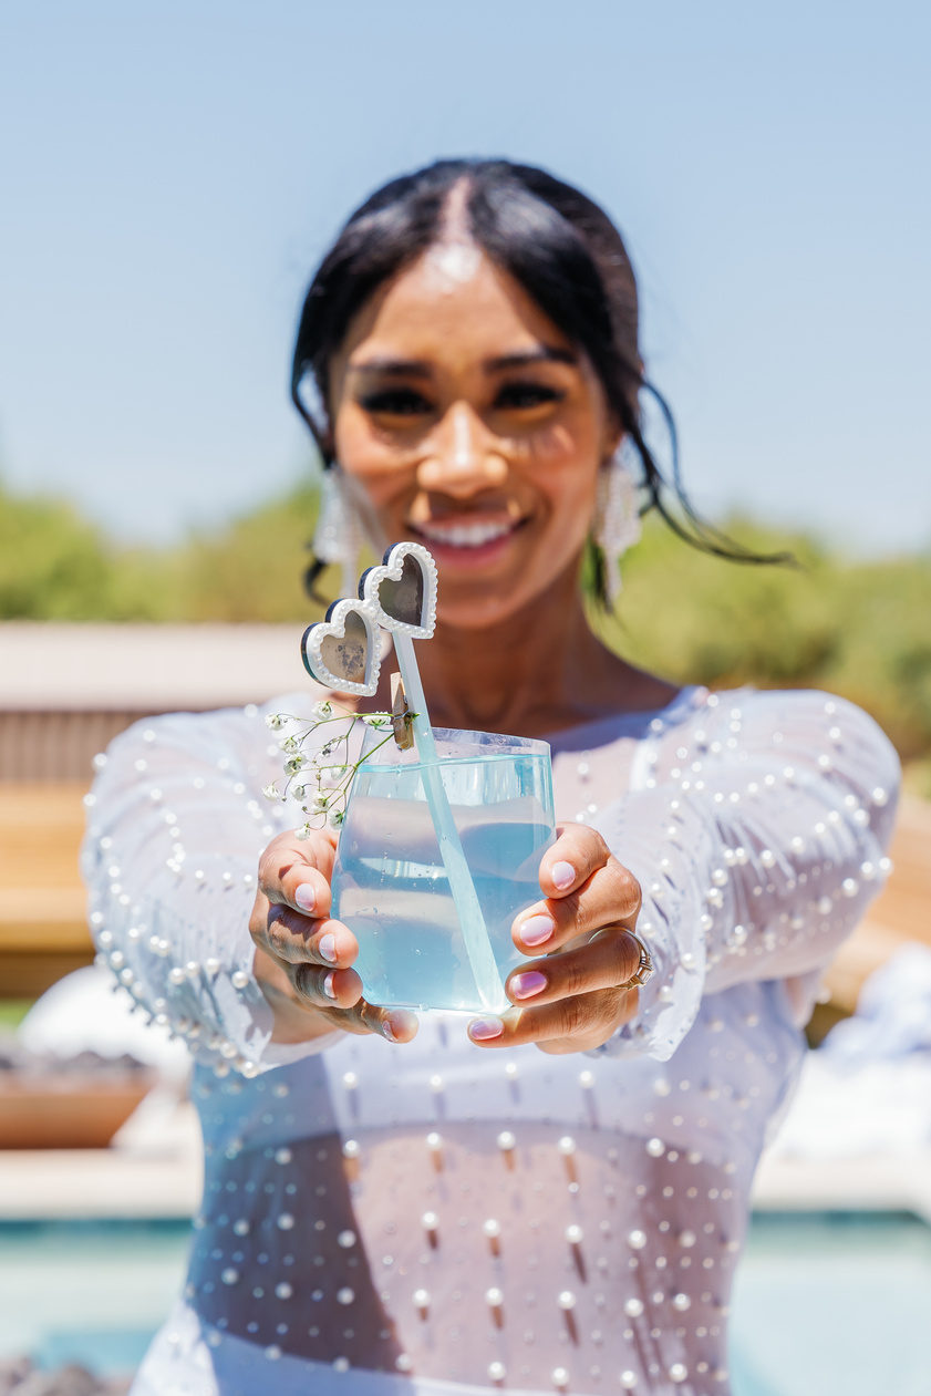
M350 967L356 937L329 919L335 854L336 835L320 829L308 839L279 833L260 859L248 930L255 979L275 1015L272 1041L310 1041L336 1027L410 1041L415 1013L366 1002Z

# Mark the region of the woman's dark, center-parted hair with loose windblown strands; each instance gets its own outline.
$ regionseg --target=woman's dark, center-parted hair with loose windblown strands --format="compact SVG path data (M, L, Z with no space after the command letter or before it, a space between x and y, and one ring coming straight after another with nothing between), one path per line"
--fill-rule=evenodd
M636 281L607 214L546 170L504 159L437 161L389 180L356 209L324 257L301 310L290 388L324 466L334 463L327 415L331 359L378 286L440 240L456 184L466 186L465 211L477 246L588 355L609 408L642 461L645 511L656 508L681 539L717 557L784 561L786 554L761 556L743 547L692 508L680 480L673 415L643 377ZM313 377L315 408L300 396L307 374ZM669 430L671 480L666 480L643 440L642 391L652 395ZM667 504L670 493L678 514ZM596 591L604 600L604 558L597 549L595 554ZM321 571L320 561L311 564L308 591Z

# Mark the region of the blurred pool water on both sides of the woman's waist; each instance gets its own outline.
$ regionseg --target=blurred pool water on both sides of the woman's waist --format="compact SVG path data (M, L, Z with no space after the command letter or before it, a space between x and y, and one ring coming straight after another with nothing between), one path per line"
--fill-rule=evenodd
M188 1231L0 1223L0 1360L131 1371L181 1286ZM731 1314L734 1396L928 1396L931 1230L907 1215L757 1216Z

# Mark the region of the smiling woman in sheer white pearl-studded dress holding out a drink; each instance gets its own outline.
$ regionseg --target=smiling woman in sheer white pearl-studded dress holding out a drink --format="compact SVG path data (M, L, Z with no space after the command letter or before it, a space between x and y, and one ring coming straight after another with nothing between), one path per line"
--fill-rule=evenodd
M839 699L677 692L585 624L579 561L593 537L606 593L631 458L666 507L634 275L582 194L507 162L385 186L310 288L293 381L335 482L320 553L352 575L363 530L430 547L433 720L547 737L564 822L514 1008L417 1032L362 997L335 835L260 804L262 713L117 738L92 921L190 1041L207 1149L186 1294L134 1392L724 1393L754 1167L888 866L895 755Z

